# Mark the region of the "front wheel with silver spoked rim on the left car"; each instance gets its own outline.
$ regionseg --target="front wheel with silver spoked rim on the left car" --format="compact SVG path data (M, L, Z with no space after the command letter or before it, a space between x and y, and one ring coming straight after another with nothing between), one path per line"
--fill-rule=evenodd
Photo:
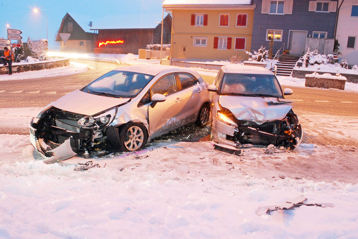
M142 150L148 140L147 130L140 123L128 123L122 128L120 140L122 151Z

